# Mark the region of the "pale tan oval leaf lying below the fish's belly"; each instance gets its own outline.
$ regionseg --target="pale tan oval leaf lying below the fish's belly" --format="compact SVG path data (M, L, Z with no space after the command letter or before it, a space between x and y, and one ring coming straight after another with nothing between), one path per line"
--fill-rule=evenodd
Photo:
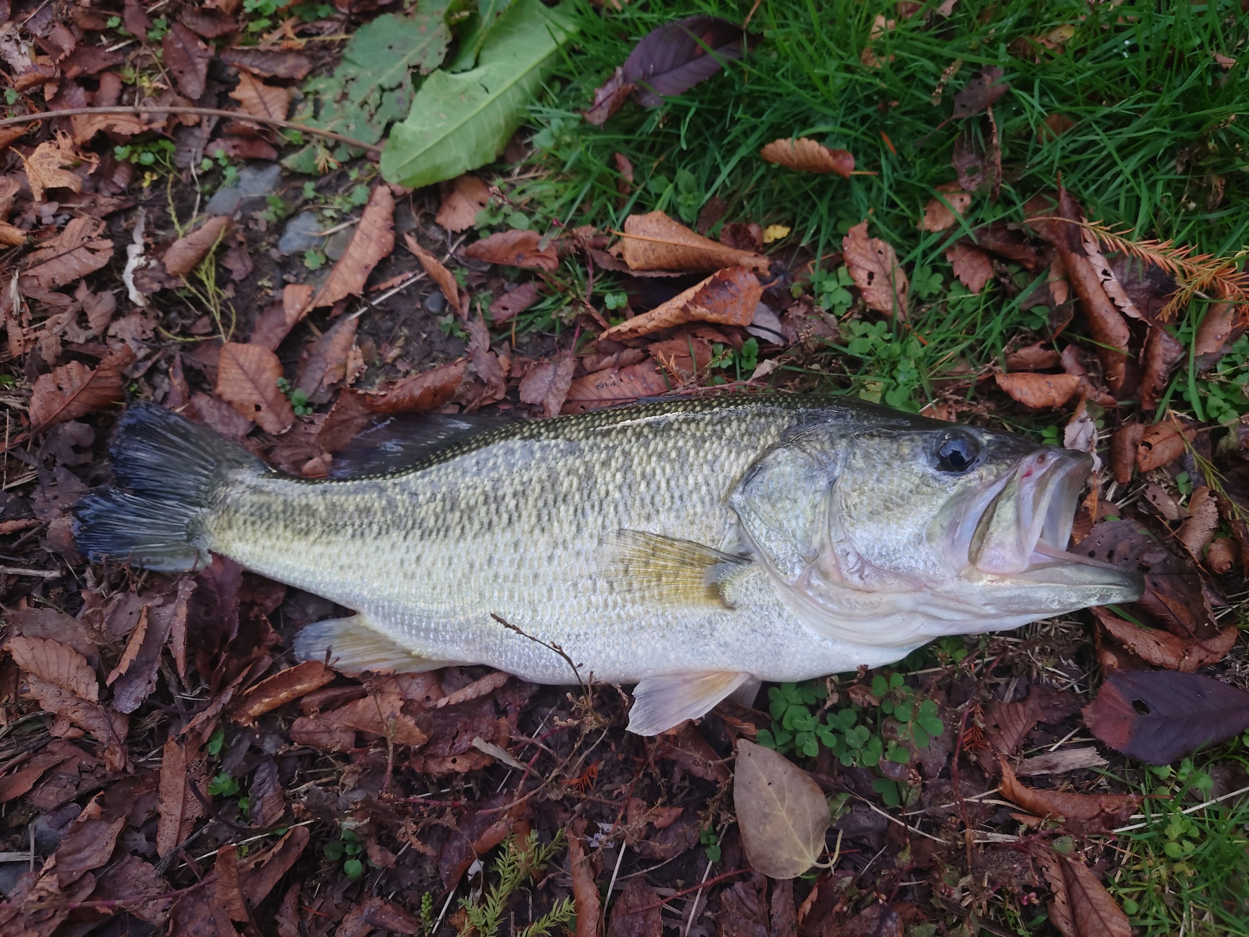
M811 775L772 748L737 742L733 808L749 863L769 878L794 878L824 851L828 801Z

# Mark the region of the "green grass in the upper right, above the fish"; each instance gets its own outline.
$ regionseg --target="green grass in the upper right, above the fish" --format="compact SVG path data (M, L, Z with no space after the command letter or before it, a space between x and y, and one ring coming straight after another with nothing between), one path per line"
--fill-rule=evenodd
M1230 71L1214 57L1237 57L1245 40L1238 4L962 0L948 20L917 15L873 40L877 15L897 16L892 4L776 0L756 11L751 29L763 39L744 60L658 110L628 104L605 127L593 127L578 109L641 36L693 12L741 21L751 4L652 1L605 12L588 0L573 1L580 46L566 51L562 76L535 112L548 171L515 191L533 224L558 219L611 230L628 214L653 209L692 224L707 200L719 197L727 221L791 225L781 246L802 242L816 257L839 251L847 229L869 217L871 234L893 244L911 274L914 334L896 324L882 331L851 321L827 356L803 362L798 372L782 369L781 380L806 377L802 386L918 409L942 379L992 364L1012 337L1047 337L1044 320L1020 304L1032 275L1014 270L1013 299L995 286L970 296L953 281L943 254L972 226L1023 220L1024 202L1053 190L1059 177L1089 217L1127 225L1138 236L1215 254L1249 242L1249 212L1240 207L1249 195L1245 56ZM1028 39L1063 26L1073 34L1062 51ZM878 69L861 61L868 45ZM958 61L934 105L943 74ZM990 204L978 195L962 231L921 232L917 222L933 187L955 179L949 160L962 122L943 121L954 94L988 64L1002 66L1010 82L995 106L1005 176L1000 197ZM1077 124L1043 139L1037 130L1052 114ZM764 144L792 135L848 149L858 169L876 175L813 176L758 157ZM631 160L637 179L623 204L617 152ZM1223 199L1207 207L1217 177ZM596 287L601 294L612 285L600 277ZM583 282L570 282L571 291L576 286ZM1184 315L1199 311L1194 305ZM550 329L558 319L558 305L550 304L527 314L520 327ZM1192 331L1183 329L1182 337ZM1080 339L1064 339L1072 340ZM967 386L968 396L972 390ZM1192 407L1195 395L1185 390L1187 380L1168 404ZM1243 394L1232 397L1239 399L1233 410L1245 409Z

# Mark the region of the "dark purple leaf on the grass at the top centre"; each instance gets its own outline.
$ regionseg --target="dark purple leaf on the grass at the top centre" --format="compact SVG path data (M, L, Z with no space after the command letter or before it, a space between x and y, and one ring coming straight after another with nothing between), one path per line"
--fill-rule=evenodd
M623 79L638 85L634 99L658 107L664 97L684 94L731 59L741 59L748 34L717 16L688 16L651 30L629 52ZM709 51L708 51L709 50Z

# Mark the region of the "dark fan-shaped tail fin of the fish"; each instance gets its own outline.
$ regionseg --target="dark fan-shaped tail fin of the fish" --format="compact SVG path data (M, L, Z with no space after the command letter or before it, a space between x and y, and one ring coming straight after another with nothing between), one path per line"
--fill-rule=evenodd
M77 547L90 560L161 572L207 566L200 517L231 470L266 470L242 446L154 404L126 410L109 449L117 487L79 501Z

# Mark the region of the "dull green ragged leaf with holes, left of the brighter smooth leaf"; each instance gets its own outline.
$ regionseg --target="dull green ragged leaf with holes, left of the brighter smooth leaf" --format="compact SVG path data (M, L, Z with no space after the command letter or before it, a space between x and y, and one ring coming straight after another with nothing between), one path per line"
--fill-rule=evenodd
M451 42L446 12L448 0L422 0L407 16L382 14L361 26L342 50L332 75L315 77L304 91L307 104L295 120L332 130L366 144L382 139L386 127L412 106L413 69L433 71ZM321 144L305 146L282 160L296 172L315 174ZM352 149L338 144L333 159L345 160Z

